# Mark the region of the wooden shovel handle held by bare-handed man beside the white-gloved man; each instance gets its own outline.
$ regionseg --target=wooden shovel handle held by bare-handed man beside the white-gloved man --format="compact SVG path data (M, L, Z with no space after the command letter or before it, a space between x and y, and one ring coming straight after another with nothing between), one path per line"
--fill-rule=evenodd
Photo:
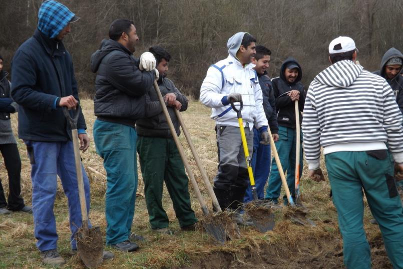
M194 157L194 159L196 161L197 167L200 170L200 174L201 174L201 176L203 178L203 181L206 184L207 191L210 194L211 199L213 200L213 205L214 205L214 207L216 208L216 210L218 212L221 212L222 210L221 210L220 204L218 203L218 200L217 200L217 197L216 197L216 195L214 193L213 187L211 186L210 180L208 179L206 170L204 169L203 165L201 164L199 155L197 154L196 149L193 146L192 139L190 137L188 129L185 126L185 123L183 121L181 112L179 112L179 110L175 108L175 114L176 114L176 117L179 120L179 123L181 124L183 133L185 134L185 137L186 137L186 141L188 142L189 148L192 151L193 157Z

